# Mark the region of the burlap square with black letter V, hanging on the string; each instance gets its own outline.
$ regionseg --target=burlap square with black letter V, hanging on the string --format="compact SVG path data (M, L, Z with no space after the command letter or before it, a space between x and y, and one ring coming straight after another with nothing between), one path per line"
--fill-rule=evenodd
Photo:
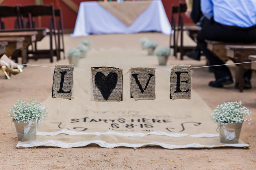
M137 100L154 100L156 68L131 68L131 98Z

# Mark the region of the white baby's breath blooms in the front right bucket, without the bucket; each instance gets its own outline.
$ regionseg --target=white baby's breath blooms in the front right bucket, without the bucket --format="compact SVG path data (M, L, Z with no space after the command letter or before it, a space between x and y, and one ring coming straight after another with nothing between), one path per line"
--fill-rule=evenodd
M243 106L241 101L224 102L213 110L211 119L222 123L242 123L244 121L251 121L251 119L247 119L247 116L250 116L250 114L250 110Z

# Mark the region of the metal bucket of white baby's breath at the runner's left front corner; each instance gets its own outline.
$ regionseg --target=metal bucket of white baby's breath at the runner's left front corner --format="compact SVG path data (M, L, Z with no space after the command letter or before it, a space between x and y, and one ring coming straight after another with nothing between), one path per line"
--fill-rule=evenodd
M9 117L15 124L16 133L19 141L34 141L36 139L36 131L41 119L48 116L48 108L43 107L40 102L31 97L28 99L17 100L10 108ZM11 126L12 127L12 126Z

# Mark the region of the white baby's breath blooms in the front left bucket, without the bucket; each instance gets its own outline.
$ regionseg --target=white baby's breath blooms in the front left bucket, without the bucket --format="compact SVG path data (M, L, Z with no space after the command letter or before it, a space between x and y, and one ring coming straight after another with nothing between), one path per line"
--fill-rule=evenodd
M39 119L46 119L48 116L48 108L43 107L40 102L31 97L26 102L26 99L17 100L17 102L10 107L9 117L14 121L35 121Z

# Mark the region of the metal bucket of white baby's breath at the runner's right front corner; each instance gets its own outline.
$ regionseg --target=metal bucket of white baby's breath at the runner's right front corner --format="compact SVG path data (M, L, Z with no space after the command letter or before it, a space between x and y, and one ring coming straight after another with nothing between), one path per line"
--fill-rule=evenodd
M218 122L221 143L238 143L242 124L250 121L247 119L250 114L241 101L218 105L211 113L211 119Z

